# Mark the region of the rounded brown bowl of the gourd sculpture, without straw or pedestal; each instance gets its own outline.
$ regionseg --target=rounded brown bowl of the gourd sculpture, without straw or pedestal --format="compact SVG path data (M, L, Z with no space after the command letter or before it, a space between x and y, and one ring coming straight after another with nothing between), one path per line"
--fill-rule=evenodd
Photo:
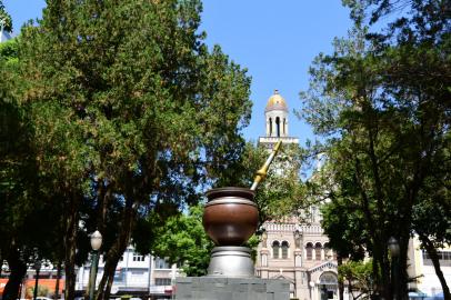
M207 192L203 228L217 246L241 246L257 230L255 192L245 188L219 188Z

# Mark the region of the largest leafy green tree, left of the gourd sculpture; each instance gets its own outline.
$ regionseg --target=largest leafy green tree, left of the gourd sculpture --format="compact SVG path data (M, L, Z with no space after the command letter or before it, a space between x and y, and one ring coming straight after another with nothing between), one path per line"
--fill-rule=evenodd
M62 200L68 299L87 232L106 238L108 299L137 220L197 202L241 154L250 79L207 49L200 11L196 0L48 1L22 31L22 102L44 188Z

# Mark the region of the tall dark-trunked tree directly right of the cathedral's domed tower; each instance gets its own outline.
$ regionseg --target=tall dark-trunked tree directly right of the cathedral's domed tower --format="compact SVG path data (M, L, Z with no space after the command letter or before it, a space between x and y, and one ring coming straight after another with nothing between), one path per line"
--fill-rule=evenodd
M348 199L350 208L363 217L362 247L373 257L378 292L385 299L394 293L407 298L412 208L421 206L427 182L449 170L448 159L443 160L449 149L444 104L450 96L449 77L439 79L434 71L450 73L448 23L437 19L431 32L429 23L421 23L428 12L413 1L411 20L394 22L387 37L369 34L362 24L365 1L347 2L355 29L349 40L335 40L332 56L317 58L310 90L301 96L303 116L325 138L337 199ZM433 7L433 11L443 17L442 8ZM435 183L435 189L447 189L443 181ZM391 276L390 236L401 247L400 273ZM399 287L390 282L394 277L400 278Z

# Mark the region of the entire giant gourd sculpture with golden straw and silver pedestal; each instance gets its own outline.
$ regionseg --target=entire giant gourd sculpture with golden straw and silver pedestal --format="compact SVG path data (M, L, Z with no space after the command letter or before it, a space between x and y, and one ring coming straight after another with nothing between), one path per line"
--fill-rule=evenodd
M253 201L255 189L264 179L275 157L279 141L263 167L257 171L250 189L227 187L207 192L208 203L203 212L203 228L214 241L208 269L209 277L253 277L251 249L242 244L255 232L259 210Z

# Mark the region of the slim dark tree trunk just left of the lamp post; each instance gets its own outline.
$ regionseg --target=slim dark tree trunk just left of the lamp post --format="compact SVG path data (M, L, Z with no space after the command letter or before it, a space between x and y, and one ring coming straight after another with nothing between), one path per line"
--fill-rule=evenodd
M72 193L69 200L66 216L64 234L64 271L66 288L64 299L72 300L76 297L76 249L77 249L77 228L78 228L78 206L79 197Z

